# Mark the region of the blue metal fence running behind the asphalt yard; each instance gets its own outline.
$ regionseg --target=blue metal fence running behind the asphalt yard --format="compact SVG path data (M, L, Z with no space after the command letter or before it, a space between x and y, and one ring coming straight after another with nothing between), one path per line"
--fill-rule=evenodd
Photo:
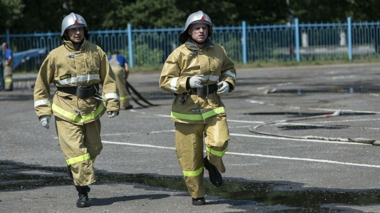
M118 49L130 67L162 65L179 45L183 28L92 30L89 40L106 53ZM11 34L6 40L13 51L59 46L59 32ZM224 46L235 63L257 61L352 60L379 57L380 22L292 23L282 25L213 26L211 39Z

